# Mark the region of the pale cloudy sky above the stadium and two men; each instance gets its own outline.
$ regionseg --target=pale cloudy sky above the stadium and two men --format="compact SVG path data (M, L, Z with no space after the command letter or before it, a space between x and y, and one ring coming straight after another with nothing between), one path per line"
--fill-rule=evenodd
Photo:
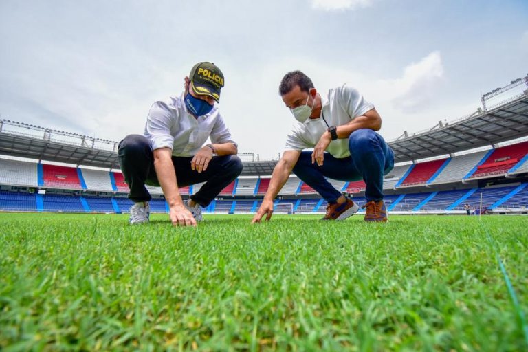
M2 0L0 114L120 140L212 61L241 152L283 150L293 117L278 84L293 69L321 92L360 89L391 140L528 74L527 19L525 0Z

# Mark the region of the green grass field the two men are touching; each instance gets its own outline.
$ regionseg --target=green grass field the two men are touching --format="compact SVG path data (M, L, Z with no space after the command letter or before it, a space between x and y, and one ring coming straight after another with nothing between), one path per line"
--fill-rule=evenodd
M528 218L0 213L0 349L526 351Z

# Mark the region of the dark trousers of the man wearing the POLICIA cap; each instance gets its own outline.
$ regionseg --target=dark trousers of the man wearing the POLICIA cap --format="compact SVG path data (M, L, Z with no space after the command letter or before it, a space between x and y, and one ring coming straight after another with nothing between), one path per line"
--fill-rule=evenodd
M118 157L126 184L129 185L129 199L135 202L150 201L148 186L159 186L154 168L154 155L151 144L143 135L127 135L119 143ZM214 156L202 173L190 168L192 157L174 157L178 187L206 182L190 198L206 207L217 195L242 173L242 162L236 155Z

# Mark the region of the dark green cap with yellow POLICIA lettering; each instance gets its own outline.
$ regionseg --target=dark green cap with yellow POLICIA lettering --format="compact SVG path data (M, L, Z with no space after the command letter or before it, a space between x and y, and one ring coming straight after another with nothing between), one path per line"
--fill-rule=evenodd
M196 94L211 96L220 101L220 89L223 87L223 74L214 63L197 63L189 74L192 90Z

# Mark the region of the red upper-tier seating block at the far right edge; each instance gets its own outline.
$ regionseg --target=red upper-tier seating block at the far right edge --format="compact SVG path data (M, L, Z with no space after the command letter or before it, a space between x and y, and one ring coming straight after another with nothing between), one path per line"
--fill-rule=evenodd
M485 162L476 167L470 178L503 175L528 153L528 142L496 148Z

